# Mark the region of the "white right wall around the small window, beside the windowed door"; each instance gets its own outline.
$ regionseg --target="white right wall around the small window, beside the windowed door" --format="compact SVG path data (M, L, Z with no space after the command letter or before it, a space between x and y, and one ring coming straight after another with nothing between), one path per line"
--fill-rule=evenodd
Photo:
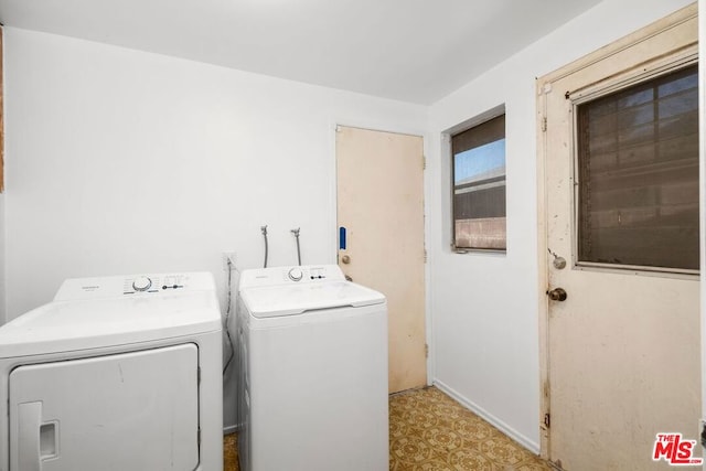
M430 107L434 379L535 451L539 449L535 77L688 3L606 0ZM502 104L507 253L452 254L449 156L440 135Z

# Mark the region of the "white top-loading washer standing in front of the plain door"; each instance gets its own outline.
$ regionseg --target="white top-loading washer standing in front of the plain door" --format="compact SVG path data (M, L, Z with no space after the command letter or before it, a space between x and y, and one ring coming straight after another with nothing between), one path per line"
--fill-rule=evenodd
M335 265L245 270L238 297L243 471L383 471L387 303Z

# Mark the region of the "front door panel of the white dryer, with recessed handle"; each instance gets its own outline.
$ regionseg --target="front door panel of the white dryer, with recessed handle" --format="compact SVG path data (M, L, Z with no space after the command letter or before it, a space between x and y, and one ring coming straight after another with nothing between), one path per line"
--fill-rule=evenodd
M197 372L193 343L14 368L10 471L194 470Z

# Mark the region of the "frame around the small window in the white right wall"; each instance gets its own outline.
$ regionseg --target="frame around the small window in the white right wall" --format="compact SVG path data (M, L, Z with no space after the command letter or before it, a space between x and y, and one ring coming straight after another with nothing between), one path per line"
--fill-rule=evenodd
M454 179L456 179L456 160L454 160L454 154L453 154L453 137L457 135L460 135L461 132L466 132L469 129L475 128L478 126L481 126L492 119L495 119L500 116L505 116L505 130L504 130L504 136L505 136L505 140L507 139L507 113L505 110L505 104L499 105L494 108L491 108L484 113L481 113L480 115L474 116L473 118L470 118L452 128L447 129L443 133L442 137L445 138L445 140L447 141L447 152L449 156L448 159L448 165L449 165L449 195L450 195L450 203L449 203L449 212L447 214L449 214L450 216L450 228L451 228L451 234L450 234L450 248L452 253L456 254L488 254L488 255L506 255L507 254L507 236L506 236L506 232L505 232L505 248L482 248L482 247L459 247L456 245L456 217L454 217L454 200L456 200L456 184L454 184ZM505 160L505 221L507 220L507 203L506 203L506 197L507 197L507 151L505 149L505 156L504 156L504 160ZM507 226L505 225L505 228Z

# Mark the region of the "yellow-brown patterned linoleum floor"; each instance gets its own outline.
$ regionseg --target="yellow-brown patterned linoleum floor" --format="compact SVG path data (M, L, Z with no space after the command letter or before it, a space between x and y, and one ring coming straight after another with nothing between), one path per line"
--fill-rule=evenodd
M224 471L237 471L236 436L226 436L223 445ZM436 387L429 387L389 398L389 470L535 471L552 468Z

